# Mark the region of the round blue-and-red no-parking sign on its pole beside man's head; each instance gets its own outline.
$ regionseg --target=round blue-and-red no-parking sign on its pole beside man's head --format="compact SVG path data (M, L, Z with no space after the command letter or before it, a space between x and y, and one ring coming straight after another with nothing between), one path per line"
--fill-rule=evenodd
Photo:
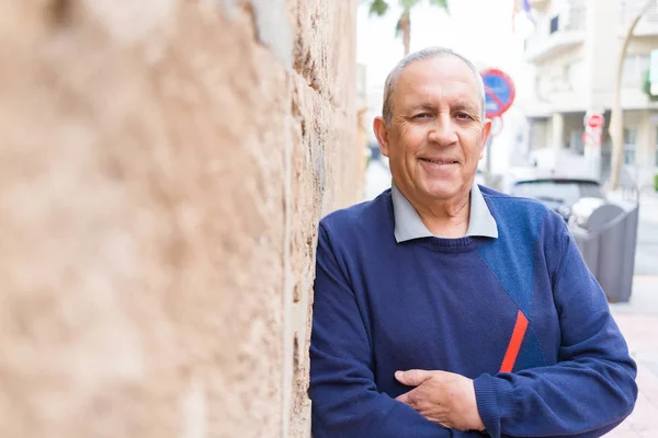
M494 137L502 130L501 116L512 106L517 90L514 82L504 72L498 69L488 69L480 72L485 83L485 115L491 119L491 132L487 140L486 174L487 184L492 183L491 177L491 143Z

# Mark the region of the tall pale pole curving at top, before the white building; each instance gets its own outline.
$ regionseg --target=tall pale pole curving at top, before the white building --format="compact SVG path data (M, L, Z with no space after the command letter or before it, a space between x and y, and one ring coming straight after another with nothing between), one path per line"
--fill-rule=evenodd
M620 174L622 172L622 157L624 152L624 110L622 108L622 73L624 71L624 59L626 59L626 51L628 50L628 44L633 38L633 31L642 19L642 15L649 9L649 7L656 0L647 0L645 5L642 8L637 16L633 20L626 32L622 50L620 51L620 58L617 61L617 71L614 84L614 96L612 101L612 112L610 115L610 137L612 138L612 169L610 175L610 188L616 189L620 184Z

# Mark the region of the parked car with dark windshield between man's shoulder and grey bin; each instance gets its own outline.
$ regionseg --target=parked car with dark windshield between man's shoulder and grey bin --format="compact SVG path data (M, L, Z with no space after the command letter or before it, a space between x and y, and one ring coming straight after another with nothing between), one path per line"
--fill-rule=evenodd
M510 195L534 198L557 211L565 220L571 216L574 204L582 198L605 199L597 180L582 176L535 175L513 178L503 191Z

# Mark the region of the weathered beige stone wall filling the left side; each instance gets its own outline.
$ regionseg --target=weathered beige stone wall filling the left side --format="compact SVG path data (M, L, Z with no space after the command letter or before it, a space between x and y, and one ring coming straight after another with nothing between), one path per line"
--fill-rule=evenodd
M0 436L303 437L355 1L0 0Z

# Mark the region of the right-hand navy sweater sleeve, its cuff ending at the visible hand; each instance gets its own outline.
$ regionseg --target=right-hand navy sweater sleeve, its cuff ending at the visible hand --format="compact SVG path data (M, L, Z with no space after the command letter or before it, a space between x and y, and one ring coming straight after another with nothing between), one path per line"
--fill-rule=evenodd
M491 437L600 437L637 397L636 366L605 295L563 221L561 261L553 295L561 332L558 362L475 380L478 410Z

